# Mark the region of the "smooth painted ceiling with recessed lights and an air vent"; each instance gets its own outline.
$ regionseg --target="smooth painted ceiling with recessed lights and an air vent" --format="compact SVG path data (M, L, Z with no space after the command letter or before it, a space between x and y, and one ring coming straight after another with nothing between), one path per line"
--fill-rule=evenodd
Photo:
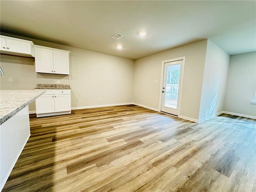
M131 59L207 38L233 55L256 51L256 1L0 0L0 27ZM123 37L111 38L115 33Z

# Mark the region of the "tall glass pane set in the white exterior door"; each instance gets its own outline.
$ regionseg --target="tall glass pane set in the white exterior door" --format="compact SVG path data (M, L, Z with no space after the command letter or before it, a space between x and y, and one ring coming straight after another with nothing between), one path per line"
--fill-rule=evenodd
M167 66L164 106L177 109L180 81L180 64Z

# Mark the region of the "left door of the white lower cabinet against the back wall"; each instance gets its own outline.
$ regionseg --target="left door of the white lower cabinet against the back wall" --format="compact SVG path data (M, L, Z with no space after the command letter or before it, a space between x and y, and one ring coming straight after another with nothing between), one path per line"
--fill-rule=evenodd
M36 114L54 112L54 95L41 95L36 99Z

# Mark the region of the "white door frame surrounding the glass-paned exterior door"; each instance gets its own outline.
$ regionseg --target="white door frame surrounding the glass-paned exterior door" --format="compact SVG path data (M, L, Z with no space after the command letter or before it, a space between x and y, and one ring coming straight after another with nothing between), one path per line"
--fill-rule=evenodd
M181 65L181 68L180 68L180 71L181 71L181 73L180 73L180 83L179 83L180 89L179 89L179 94L178 94L178 100L181 101L183 77L184 77L184 68L185 68L185 56L162 61L161 80L160 80L160 92L159 92L159 103L158 103L158 111L159 112L161 111L161 108L162 108L162 88L164 86L164 64L168 63L168 62L179 61L179 60L183 60L183 64ZM177 106L178 117L180 116L180 106L181 106L181 102L179 102L179 104Z

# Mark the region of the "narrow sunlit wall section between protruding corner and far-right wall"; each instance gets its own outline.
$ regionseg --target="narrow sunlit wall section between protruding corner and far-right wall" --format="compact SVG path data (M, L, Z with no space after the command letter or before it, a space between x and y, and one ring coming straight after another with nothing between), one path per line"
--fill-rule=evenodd
M222 112L230 56L207 41L199 121Z

